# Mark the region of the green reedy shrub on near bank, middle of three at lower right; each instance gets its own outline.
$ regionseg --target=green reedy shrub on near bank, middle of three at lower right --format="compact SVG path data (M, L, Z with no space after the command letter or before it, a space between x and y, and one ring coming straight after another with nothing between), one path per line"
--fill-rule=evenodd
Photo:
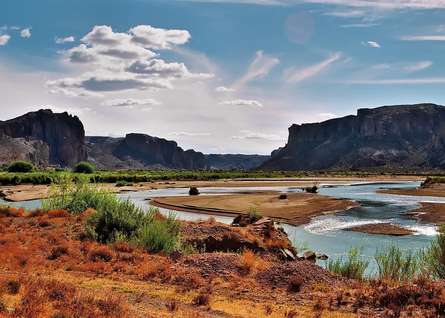
M412 280L419 269L417 256L412 249L401 251L399 245L391 243L377 249L374 258L377 262L377 275L393 281Z

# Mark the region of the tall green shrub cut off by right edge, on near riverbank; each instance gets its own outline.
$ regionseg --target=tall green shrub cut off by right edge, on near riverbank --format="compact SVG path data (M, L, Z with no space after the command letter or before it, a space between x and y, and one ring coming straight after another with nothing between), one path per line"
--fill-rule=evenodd
M419 259L427 275L445 279L445 224L439 225L437 232L431 245L419 251Z

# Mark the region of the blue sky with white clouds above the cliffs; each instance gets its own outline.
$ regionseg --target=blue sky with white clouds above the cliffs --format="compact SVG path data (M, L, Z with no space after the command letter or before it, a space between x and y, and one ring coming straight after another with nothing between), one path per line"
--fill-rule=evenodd
M268 155L294 123L444 105L444 49L445 0L6 1L0 120Z

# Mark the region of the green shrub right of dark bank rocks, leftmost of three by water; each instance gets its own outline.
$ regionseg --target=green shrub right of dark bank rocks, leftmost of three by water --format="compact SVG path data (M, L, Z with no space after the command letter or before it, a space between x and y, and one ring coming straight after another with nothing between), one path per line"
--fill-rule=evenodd
M363 246L351 246L347 261L343 261L343 256L336 261L326 261L326 269L343 277L361 280L369 265L369 261L364 259L362 252Z

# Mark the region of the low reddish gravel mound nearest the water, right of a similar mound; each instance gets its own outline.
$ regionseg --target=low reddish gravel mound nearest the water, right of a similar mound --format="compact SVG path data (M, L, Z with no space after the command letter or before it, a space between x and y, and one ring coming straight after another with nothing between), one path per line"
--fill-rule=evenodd
M268 286L280 288L291 287L291 277L298 277L303 281L303 286L311 282L319 282L324 285L340 284L348 285L348 279L340 277L308 261L289 262L283 265L270 267L259 273L256 278Z

